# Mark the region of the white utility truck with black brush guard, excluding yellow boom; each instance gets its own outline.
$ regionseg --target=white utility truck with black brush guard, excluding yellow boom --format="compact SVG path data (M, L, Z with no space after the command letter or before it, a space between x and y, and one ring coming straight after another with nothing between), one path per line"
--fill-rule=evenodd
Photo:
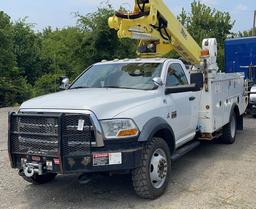
M234 143L248 104L240 74L206 79L176 59L103 61L67 82L10 113L11 165L29 182L130 172L136 193L154 199L199 139Z

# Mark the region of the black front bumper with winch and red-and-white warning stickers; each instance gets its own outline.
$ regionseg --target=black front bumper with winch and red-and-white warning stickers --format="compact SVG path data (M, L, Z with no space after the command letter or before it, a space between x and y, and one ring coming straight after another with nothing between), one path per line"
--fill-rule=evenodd
M139 166L141 148L118 149L92 152L83 157L68 157L65 160L53 157L34 155L15 155L12 158L12 167L24 169L26 165L42 167L42 173L95 173L128 171ZM115 159L113 159L113 157ZM111 159L112 157L112 159ZM96 160L97 159L97 160ZM111 162L110 162L111 161ZM50 166L49 166L50 163Z

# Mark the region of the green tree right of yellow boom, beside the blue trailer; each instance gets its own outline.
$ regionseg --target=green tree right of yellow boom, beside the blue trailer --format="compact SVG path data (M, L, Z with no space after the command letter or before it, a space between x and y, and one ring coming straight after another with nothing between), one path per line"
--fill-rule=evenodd
M231 29L235 23L230 14L211 9L200 1L194 1L191 4L191 13L183 9L178 19L200 46L204 38L217 39L218 64L221 70L224 69L224 41L227 35L232 34Z

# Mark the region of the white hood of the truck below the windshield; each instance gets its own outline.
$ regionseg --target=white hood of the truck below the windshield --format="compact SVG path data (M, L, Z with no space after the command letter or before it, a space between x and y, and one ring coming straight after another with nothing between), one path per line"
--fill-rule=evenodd
M24 102L20 109L90 110L98 119L113 118L121 112L150 102L157 91L88 88L61 91Z

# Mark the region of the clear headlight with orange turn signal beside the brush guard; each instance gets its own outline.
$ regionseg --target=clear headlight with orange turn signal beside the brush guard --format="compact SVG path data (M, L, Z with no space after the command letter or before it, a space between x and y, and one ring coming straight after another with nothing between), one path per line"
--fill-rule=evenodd
M102 120L104 135L110 138L127 138L137 136L139 130L131 119Z

